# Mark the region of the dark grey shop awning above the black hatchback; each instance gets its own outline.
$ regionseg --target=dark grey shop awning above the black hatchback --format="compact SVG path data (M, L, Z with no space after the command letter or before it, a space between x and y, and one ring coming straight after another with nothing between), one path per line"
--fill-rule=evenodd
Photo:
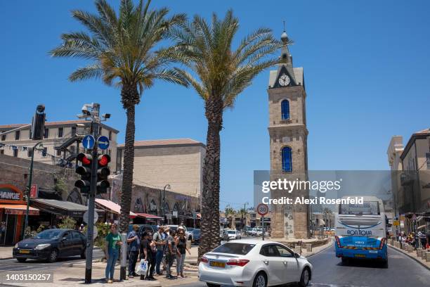
M49 212L54 215L67 215L70 217L82 217L88 206L72 203L70 201L61 201L55 199L45 198L32 198L32 205L41 211ZM96 212L103 212L103 210L97 210Z

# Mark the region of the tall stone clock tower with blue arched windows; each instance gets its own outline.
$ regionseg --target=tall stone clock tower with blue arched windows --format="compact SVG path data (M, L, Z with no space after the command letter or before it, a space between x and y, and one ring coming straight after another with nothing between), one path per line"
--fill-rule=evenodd
M271 180L308 179L308 129L306 128L306 90L303 68L294 68L289 39L284 31L278 70L270 72L268 86L271 139ZM308 191L272 191L271 198L308 198ZM308 238L307 205L271 205L273 238Z

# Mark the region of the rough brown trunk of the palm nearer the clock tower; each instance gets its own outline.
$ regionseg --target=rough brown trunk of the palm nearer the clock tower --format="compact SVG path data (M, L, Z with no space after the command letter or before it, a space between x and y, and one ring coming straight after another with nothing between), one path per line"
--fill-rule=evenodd
M219 238L219 174L221 141L219 132L223 124L223 102L211 97L207 100L207 142L203 166L202 223L199 261L204 253L216 248Z

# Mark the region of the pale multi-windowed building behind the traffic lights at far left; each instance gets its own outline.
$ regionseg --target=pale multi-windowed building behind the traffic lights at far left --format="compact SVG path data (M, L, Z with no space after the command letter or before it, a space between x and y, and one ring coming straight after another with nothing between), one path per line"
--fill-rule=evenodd
M8 133L2 134L4 132ZM107 125L100 125L100 135L110 139L110 146L105 153L112 159L111 167L116 166L118 132ZM85 120L46 122L42 146L34 153L34 161L50 165L74 163L77 153L84 151L82 144L79 144L82 135L90 133L90 122ZM0 134L0 154L32 158L32 147L39 141L30 139L29 124L0 125Z

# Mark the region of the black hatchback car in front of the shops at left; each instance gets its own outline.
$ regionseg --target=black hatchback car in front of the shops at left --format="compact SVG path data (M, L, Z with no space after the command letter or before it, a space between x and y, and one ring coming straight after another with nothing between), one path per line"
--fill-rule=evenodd
M13 247L13 258L24 262L27 258L56 262L59 257L85 258L86 238L73 229L46 229L37 236L24 239Z

